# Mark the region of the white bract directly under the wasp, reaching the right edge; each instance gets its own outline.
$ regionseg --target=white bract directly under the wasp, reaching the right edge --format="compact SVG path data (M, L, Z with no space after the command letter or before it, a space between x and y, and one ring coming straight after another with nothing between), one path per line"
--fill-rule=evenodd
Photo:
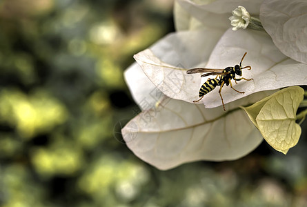
M224 103L246 97L254 92L273 90L286 86L307 85L307 65L299 63L283 55L274 45L268 34L252 30L228 30L212 51L206 68L226 68L235 66L241 61L244 52L248 52L242 67L251 66L252 70L242 70L243 75L252 81L239 81L235 89L245 92L235 92L229 86L224 86L221 95ZM204 83L208 78L204 78ZM213 108L221 105L218 89L208 93L202 99L204 105Z

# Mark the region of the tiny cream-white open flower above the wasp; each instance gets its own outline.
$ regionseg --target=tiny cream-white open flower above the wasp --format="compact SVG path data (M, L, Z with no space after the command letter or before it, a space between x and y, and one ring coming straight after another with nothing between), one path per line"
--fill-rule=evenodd
M238 30L247 28L250 23L250 13L243 6L238 6L235 10L232 10L232 16L229 17L230 24L233 26L232 30Z

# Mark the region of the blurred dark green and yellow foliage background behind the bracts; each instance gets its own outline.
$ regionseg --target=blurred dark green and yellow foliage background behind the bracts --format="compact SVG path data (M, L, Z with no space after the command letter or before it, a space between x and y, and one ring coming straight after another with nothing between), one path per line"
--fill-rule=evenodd
M0 1L0 206L307 206L306 123L287 156L168 171L122 143L123 71L174 30L172 0Z

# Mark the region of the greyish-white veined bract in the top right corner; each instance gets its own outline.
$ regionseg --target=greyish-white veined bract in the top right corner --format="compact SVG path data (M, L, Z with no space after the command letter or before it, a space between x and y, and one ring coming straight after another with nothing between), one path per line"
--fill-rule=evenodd
M260 20L284 55L307 63L307 1L265 0Z

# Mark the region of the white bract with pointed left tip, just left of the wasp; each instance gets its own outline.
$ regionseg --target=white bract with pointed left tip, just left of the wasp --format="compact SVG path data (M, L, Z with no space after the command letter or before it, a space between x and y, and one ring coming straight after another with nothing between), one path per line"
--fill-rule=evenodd
M194 68L200 64L205 66L221 34L221 31L213 29L170 34L151 50L139 52L135 59L150 81L165 95L192 102L197 98L200 75L186 75L186 70L167 67Z

